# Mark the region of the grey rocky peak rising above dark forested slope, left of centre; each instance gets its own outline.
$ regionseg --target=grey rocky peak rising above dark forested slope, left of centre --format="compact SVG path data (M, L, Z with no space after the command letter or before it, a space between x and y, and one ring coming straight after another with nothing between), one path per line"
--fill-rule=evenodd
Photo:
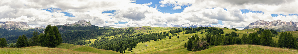
M92 24L90 23L90 21L79 20L78 22L75 22L75 23L64 24L64 26L92 26Z

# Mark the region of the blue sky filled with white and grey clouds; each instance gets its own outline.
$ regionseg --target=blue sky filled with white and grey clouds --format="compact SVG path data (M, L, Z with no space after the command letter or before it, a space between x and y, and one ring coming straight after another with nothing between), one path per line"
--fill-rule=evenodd
M78 20L103 27L197 23L243 29L256 20L298 22L297 0L0 0L0 22L31 27Z

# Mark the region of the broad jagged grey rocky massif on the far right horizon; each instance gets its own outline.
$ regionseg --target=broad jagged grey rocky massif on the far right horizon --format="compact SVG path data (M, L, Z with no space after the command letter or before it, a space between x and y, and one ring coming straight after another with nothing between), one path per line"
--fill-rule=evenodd
M282 20L273 20L271 22L265 20L256 20L250 23L244 29L252 29L252 28L264 28L264 29L273 29L276 31L295 31L297 30L298 22L286 22Z

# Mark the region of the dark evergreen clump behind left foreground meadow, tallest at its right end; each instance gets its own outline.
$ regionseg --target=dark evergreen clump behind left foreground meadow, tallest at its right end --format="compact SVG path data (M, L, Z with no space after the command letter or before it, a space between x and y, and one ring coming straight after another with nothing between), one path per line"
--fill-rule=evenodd
M28 46L43 46L43 47L56 47L60 43L62 43L62 38L60 32L58 31L58 27L47 25L45 28L45 34L39 34L37 31L34 31L33 36L28 40L26 35L20 35L17 39L15 45L11 45L11 47L28 47Z

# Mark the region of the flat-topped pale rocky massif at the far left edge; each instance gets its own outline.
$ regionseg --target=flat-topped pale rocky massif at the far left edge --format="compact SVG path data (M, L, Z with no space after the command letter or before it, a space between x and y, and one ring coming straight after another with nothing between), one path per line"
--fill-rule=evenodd
M0 27L6 30L28 30L32 28L26 22L14 21L6 21L5 23L0 23Z

